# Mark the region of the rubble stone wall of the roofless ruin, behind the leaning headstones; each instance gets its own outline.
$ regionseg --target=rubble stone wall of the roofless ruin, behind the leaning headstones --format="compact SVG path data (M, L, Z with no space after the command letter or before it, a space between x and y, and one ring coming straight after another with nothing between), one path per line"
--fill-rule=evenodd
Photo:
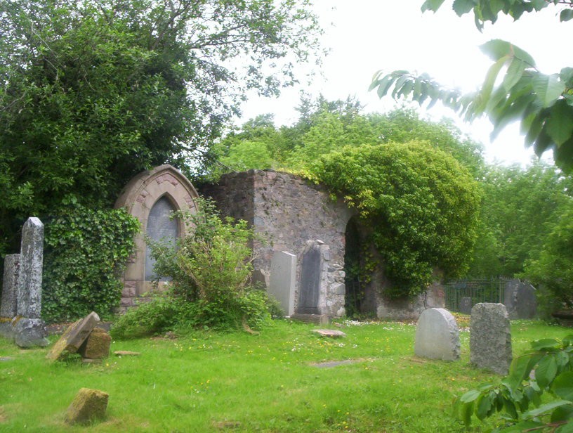
M329 247L327 292L320 314L344 314L344 234L353 212L342 200L331 200L327 190L298 176L268 170L249 170L223 176L201 193L216 201L224 215L244 219L265 242L255 241L254 267L258 280L268 287L275 251L296 254L298 259L295 308L302 254L308 241L320 240Z

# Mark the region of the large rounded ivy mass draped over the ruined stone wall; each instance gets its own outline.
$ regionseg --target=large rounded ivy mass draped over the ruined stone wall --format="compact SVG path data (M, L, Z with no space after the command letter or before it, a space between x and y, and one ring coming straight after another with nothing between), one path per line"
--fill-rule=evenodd
M371 228L393 283L384 295L418 295L435 269L467 270L480 190L451 155L416 141L349 146L322 157L315 174Z

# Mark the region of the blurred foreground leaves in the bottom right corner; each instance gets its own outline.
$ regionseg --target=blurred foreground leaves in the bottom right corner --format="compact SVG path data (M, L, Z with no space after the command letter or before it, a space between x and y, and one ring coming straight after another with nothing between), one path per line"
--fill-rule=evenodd
M570 432L572 343L573 335L532 342L531 351L513 359L510 374L501 383L485 384L463 394L456 408L466 426L472 415L484 420L503 412L504 421L494 432ZM549 394L551 401L543 394Z

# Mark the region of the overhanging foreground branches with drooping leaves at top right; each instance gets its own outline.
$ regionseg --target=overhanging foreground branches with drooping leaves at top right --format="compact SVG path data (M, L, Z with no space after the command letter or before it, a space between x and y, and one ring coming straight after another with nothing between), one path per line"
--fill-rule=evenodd
M422 11L437 11L443 3L444 0L426 0ZM452 7L459 16L473 11L475 25L482 30L485 22L496 22L501 13L518 20L525 12L557 5L562 7L561 21L573 18L571 0L454 0ZM441 101L466 119L487 115L494 124L493 135L519 120L527 146L533 146L537 155L551 149L559 167L573 169L573 67L542 74L532 56L499 39L487 42L481 49L494 63L476 93L463 95L441 86L427 74L418 76L404 70L378 72L370 87L377 89L380 97L411 97L420 105L430 101L428 107ZM503 79L498 80L504 67Z

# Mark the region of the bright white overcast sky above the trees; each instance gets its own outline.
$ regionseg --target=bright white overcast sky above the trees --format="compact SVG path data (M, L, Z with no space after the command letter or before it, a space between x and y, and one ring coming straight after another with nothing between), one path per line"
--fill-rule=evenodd
M277 99L249 98L237 123L272 112L277 124L292 124L298 118L294 107L301 89L316 96L322 93L329 100L356 96L367 111L386 112L396 105L393 99L380 100L375 91L367 91L378 70L428 72L444 86L473 91L491 65L478 46L490 39L505 39L525 49L544 73L559 72L572 63L567 54L573 26L559 22L557 8L524 14L515 22L503 16L480 33L473 14L459 18L451 10L451 1L435 14L422 14L421 4L423 0L317 0L315 10L326 30L324 46L331 49L320 71L322 77L317 76L310 86L286 89ZM427 114L433 119L454 119L462 131L485 145L489 162L526 164L533 155L524 146L518 124L507 127L490 143L492 127L487 119L466 124L439 105Z

